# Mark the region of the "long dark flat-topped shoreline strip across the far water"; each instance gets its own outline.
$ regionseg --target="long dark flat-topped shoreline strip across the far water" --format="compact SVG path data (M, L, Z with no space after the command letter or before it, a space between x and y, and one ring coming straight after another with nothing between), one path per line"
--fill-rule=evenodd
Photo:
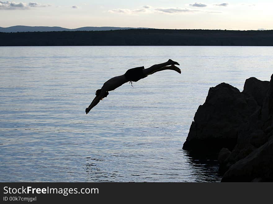
M0 46L273 46L273 30L127 29L0 33Z

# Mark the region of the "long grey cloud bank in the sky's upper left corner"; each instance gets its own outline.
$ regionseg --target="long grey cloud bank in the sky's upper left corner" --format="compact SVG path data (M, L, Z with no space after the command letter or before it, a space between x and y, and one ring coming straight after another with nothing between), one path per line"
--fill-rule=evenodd
M23 10L23 9L28 9L30 7L49 7L51 5L49 4L39 4L39 3L35 3L35 2L29 2L27 3L16 3L16 2L2 2L0 1L0 9L2 10Z

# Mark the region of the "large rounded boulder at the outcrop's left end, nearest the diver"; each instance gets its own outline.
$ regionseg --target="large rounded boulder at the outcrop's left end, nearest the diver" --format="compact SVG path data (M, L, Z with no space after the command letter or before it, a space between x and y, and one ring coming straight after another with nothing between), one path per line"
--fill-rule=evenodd
M239 127L255 111L253 107L239 89L229 84L210 88L205 103L195 113L183 149L233 149Z

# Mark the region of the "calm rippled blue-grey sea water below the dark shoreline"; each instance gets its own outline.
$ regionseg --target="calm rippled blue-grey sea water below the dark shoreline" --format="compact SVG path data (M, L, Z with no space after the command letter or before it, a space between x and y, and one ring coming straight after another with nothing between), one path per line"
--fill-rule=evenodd
M132 67L165 70L111 91ZM272 47L0 47L1 182L218 182L216 161L182 150L210 87L270 80Z

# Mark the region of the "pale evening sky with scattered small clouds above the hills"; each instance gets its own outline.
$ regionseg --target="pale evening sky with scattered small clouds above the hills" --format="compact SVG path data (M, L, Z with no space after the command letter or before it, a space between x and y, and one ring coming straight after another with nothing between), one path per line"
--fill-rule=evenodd
M0 27L14 25L147 27L159 29L273 29L270 1L0 0Z

